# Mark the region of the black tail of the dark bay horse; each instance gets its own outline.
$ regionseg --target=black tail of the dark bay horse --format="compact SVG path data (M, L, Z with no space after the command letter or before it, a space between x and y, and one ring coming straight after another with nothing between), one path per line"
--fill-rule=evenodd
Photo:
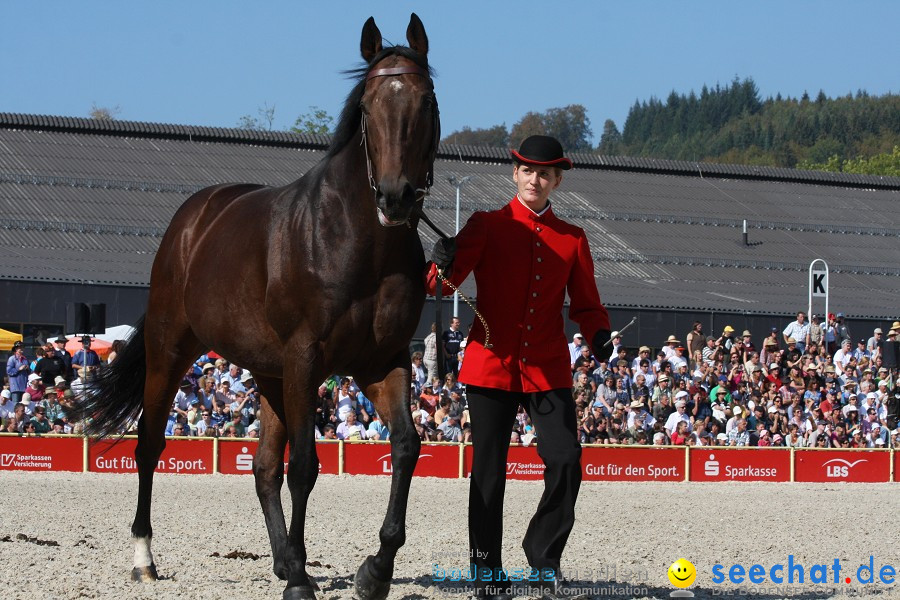
M123 433L134 422L144 402L147 375L144 317L113 363L100 370L83 395L75 399L71 416L85 423L84 432L100 438Z

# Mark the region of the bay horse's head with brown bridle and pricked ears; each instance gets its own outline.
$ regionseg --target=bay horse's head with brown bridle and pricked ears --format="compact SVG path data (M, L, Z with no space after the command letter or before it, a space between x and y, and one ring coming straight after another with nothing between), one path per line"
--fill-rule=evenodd
M437 100L428 69L428 37L414 14L406 30L409 48L382 48L369 18L360 50L369 63L360 100L369 184L382 225L406 223L431 186L440 138Z

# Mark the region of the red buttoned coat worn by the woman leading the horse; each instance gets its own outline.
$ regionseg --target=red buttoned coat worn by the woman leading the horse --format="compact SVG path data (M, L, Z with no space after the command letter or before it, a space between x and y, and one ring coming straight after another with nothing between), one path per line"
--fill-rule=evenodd
M475 272L478 311L493 344L484 347L484 327L476 318L459 380L511 392L571 387L562 317L566 291L569 318L586 339L610 329L584 231L552 209L538 216L513 198L500 210L473 214L456 244L450 281L459 286ZM428 293L434 294L436 281L436 268L429 265ZM452 292L444 286L442 293Z

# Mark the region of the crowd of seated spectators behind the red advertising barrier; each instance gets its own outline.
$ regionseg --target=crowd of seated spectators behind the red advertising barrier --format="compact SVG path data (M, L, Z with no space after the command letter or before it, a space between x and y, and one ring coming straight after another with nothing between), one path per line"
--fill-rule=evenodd
M578 435L585 444L900 447L900 380L884 364L884 342L896 342L900 321L885 333L854 338L841 313L825 319L804 312L764 335L726 326L707 335L695 322L669 335L652 355L632 355L622 336L605 352L575 334L568 349ZM824 322L823 322L824 321ZM754 339L756 338L756 339ZM2 431L26 435L81 433L68 408L103 364L86 338L74 356L59 338L25 356L17 344L0 393ZM437 344L446 375L438 376ZM459 319L425 339L411 356L409 409L423 441L468 442L465 386L457 381L466 338ZM121 343L113 345L115 360ZM387 440L390 432L350 376L333 376L315 398L316 437ZM259 390L250 372L204 355L173 398L170 436L258 437ZM130 431L136 429L131 424ZM540 432L519 407L510 442L540 443Z

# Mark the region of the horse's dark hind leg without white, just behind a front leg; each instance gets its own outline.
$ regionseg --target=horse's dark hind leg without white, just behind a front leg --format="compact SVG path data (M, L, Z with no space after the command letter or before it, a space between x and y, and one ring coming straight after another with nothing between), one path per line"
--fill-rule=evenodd
M287 546L287 526L281 506L281 486L284 483L284 449L287 430L284 426L284 407L280 379L255 377L262 391L259 414L259 447L253 459L256 495L266 519L269 543L272 546L273 570L279 579L287 579L284 551Z

